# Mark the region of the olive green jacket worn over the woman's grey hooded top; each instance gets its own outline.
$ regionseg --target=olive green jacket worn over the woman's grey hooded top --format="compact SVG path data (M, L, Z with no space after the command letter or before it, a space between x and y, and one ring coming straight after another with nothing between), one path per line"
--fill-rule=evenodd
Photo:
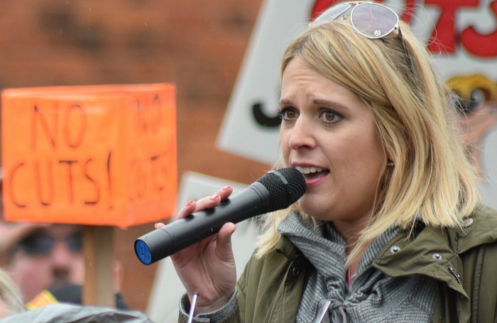
M464 229L427 226L415 239L396 236L373 266L393 277L435 278L439 292L434 323L497 322L497 212L479 207ZM238 281L236 312L223 322L295 322L300 297L314 270L293 243L252 257Z

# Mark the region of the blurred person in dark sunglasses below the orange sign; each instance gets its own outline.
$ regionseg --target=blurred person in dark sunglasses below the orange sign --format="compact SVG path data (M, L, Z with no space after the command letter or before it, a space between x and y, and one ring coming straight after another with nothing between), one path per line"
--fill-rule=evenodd
M81 304L83 226L5 221L1 194L0 207L0 267L18 286L28 310L53 302ZM116 261L116 307L127 309L119 292L121 281L122 268Z

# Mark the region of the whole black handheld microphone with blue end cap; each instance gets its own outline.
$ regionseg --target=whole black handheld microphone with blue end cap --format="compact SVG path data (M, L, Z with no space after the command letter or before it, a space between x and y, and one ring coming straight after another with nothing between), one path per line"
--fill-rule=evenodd
M217 234L223 224L285 209L305 193L305 179L295 168L272 170L214 209L195 212L136 239L135 253L150 265L193 243Z

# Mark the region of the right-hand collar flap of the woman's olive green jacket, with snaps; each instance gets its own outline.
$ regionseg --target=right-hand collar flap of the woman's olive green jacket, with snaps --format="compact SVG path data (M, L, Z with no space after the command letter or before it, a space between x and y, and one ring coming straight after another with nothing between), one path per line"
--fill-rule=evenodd
M497 217L491 216L493 212L479 206L464 220L462 228L427 226L414 239L403 232L388 243L373 265L393 277L428 275L468 297L461 285L463 267L459 255L497 241Z

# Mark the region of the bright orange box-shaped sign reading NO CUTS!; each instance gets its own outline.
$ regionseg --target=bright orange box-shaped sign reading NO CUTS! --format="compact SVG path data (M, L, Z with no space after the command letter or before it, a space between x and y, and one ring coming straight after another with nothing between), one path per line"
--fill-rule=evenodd
M176 208L174 84L6 89L4 217L132 226Z

